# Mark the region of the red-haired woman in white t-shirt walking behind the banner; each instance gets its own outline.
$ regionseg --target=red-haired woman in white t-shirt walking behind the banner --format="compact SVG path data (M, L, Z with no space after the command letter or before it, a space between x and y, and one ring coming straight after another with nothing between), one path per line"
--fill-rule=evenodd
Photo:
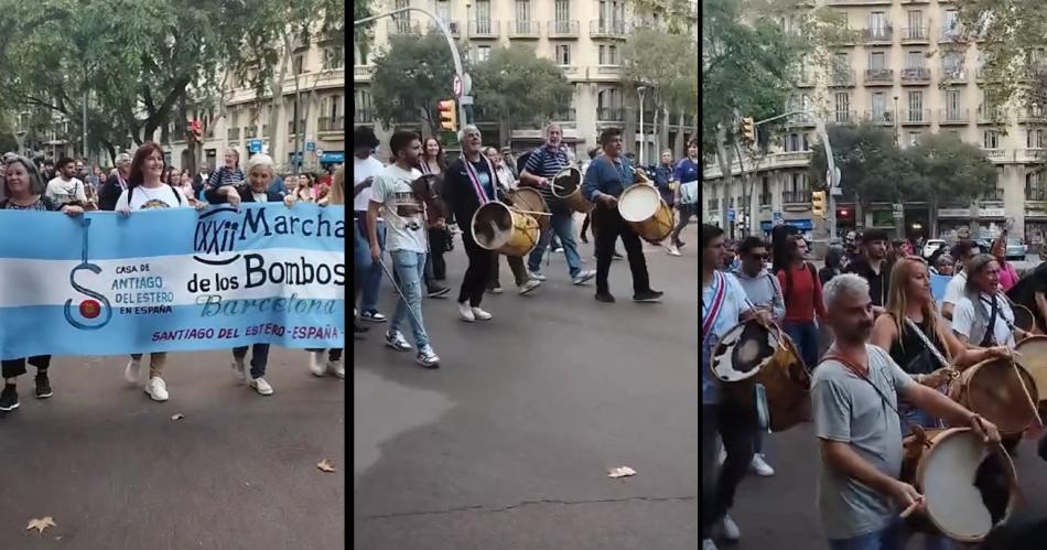
M181 188L172 187L161 180L165 164L163 149L159 143L149 141L138 148L131 161L127 191L117 199L116 211L130 216L132 212L152 208L192 208L193 204ZM206 203L196 204L197 209L206 207ZM168 388L161 378L166 360L166 352L149 354L149 381L144 389L153 401L168 400ZM129 384L139 382L141 362L142 354L131 354L131 360L123 369L123 377Z

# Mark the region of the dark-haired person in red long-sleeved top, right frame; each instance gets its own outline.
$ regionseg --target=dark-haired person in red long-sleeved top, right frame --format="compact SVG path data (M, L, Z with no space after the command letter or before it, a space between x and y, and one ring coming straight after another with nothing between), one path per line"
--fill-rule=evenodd
M799 235L786 240L788 263L778 272L786 302L786 316L781 328L792 338L808 368L818 364L817 319L825 316L821 295L821 281L814 266L807 261L807 241Z

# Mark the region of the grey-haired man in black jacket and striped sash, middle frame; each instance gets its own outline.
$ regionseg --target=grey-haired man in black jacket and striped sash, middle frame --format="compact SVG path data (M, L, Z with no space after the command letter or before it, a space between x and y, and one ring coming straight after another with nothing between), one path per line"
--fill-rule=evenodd
M469 265L458 292L458 315L462 321L473 323L492 319L492 314L481 309L479 304L487 290L490 266L498 256L476 244L469 224L481 206L499 199L498 175L494 164L482 153L483 139L478 128L467 125L462 129L460 141L462 157L447 166L442 195L454 213L454 218L463 224L462 242ZM506 199L501 202L508 203Z

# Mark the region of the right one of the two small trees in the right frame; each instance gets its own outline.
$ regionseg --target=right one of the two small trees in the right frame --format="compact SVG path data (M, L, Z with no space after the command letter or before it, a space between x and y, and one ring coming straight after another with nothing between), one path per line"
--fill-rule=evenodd
M933 133L905 150L914 177L909 191L927 201L930 235L938 235L942 197L968 202L996 188L996 168L985 151L950 133Z

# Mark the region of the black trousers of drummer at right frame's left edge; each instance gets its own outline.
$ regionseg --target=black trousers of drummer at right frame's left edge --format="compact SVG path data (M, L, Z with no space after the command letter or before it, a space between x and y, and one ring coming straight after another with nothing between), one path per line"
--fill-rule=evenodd
M727 460L720 467L720 445L723 441ZM756 439L756 419L737 405L724 402L702 405L702 538L710 538L713 525L734 505L749 463Z

